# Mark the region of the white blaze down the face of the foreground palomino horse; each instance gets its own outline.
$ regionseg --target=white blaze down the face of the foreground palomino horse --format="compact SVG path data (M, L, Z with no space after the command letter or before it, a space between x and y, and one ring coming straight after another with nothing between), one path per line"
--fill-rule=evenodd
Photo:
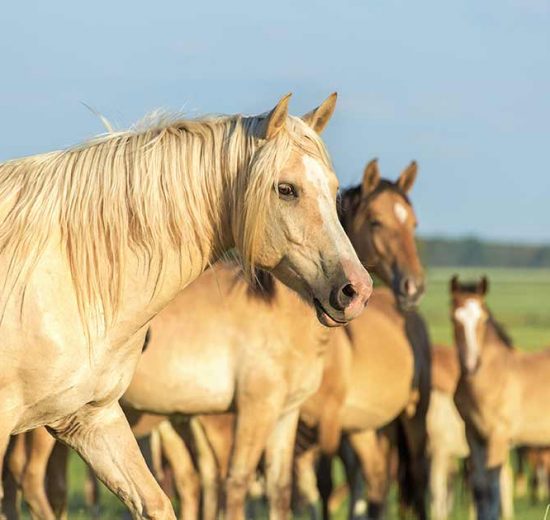
M323 220L323 233L326 233L326 236L339 251L347 252L348 249L351 249L351 244L338 220L335 202L328 182L328 174L324 166L313 157L304 155L302 160L306 169L306 178L318 190L317 203ZM344 254L343 256L349 257L350 255Z

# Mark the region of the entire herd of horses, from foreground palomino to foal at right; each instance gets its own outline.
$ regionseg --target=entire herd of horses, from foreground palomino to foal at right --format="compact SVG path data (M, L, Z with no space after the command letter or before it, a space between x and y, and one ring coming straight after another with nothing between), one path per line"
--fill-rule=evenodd
M67 516L69 448L90 515L97 477L143 519L175 518L171 494L182 519L242 519L255 495L272 519L344 496L384 518L396 479L402 515L443 520L468 458L496 520L513 446L548 474L550 352L512 347L485 278L452 279L455 348L431 345L416 163L337 194L336 95L303 117L289 99L0 165L0 518Z

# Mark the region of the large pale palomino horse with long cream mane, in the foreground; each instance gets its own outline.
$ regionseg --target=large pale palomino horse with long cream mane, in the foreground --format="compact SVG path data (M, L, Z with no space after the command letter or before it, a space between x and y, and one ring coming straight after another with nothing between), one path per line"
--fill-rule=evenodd
M170 518L118 404L149 321L234 247L323 323L362 311L371 280L316 132L335 96L303 120L288 101L0 166L0 461L10 434L47 425L135 517Z

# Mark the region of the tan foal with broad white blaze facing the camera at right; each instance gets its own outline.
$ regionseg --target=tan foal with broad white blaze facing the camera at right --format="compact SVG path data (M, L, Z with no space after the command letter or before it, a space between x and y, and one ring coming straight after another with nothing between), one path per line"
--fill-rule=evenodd
M550 444L550 350L526 354L510 339L485 302L486 278L451 284L451 317L461 375L455 403L466 423L472 486L480 520L499 518L499 472L513 444Z

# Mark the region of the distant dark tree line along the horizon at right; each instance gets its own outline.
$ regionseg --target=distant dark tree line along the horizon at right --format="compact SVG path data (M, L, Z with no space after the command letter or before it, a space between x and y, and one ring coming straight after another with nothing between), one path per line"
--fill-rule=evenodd
M433 267L550 267L550 245L486 242L477 238L420 238L420 255Z

